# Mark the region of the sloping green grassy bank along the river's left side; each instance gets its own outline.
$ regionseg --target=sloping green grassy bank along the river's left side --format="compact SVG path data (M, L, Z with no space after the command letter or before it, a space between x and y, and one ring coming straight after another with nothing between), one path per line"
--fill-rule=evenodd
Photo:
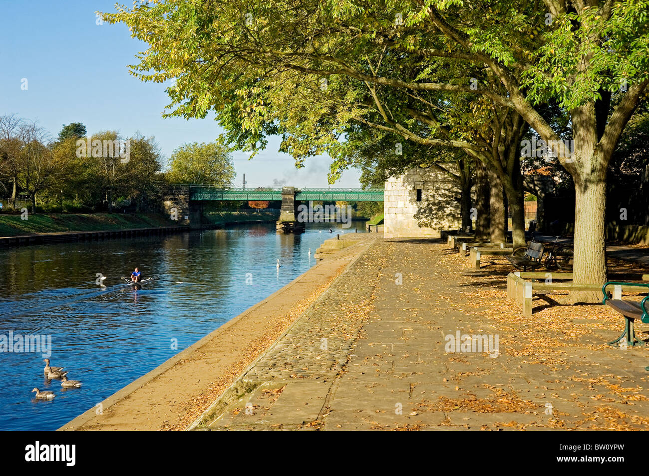
M0 236L51 233L61 231L103 231L130 228L154 228L174 225L156 214L36 214L25 220L20 215L0 215Z

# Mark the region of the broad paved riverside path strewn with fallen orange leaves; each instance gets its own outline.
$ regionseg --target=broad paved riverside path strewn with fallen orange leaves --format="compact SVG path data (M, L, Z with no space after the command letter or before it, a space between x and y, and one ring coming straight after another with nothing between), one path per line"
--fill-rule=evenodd
M520 317L439 240L379 239L196 429L642 429L646 355L600 306ZM457 334L498 350L449 349ZM486 341L485 341L486 342ZM478 351L474 351L478 350Z

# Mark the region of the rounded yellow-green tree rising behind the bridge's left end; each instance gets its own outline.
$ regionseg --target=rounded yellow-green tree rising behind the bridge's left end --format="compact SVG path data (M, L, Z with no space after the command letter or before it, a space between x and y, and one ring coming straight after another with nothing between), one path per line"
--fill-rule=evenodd
M225 186L234 181L234 164L222 145L184 144L171 154L167 180L177 184Z

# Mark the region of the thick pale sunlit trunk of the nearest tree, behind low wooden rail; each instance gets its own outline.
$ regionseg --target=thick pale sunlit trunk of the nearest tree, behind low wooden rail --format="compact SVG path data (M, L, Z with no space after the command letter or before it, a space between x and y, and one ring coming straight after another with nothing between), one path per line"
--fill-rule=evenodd
M574 268L572 282L598 284L606 282L606 177L588 177L576 181L574 210ZM573 291L574 303L596 303L599 291Z

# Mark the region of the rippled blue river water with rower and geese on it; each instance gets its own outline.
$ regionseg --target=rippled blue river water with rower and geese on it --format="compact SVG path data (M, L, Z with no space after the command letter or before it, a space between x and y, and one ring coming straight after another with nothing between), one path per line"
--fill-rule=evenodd
M332 225L349 233L356 223L362 232L363 222ZM51 336L51 364L83 385L63 390L43 376L47 348L0 352L0 430L55 430L95 407L304 273L332 237L329 227L279 234L275 223L259 223L1 250L0 346L10 332L12 350L19 350L18 336ZM144 277L182 284L116 288L135 266ZM97 273L105 288L95 284ZM53 390L55 399L34 399L34 387Z

